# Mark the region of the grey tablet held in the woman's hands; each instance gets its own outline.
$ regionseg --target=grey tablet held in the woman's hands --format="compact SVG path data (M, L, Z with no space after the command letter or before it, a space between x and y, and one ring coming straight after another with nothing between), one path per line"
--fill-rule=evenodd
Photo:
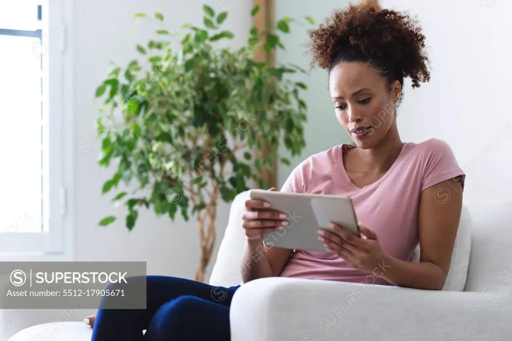
M331 229L334 222L360 237L352 199L344 196L284 193L264 189L249 190L251 199L266 200L270 209L287 215L288 224L264 235L267 247L330 251L318 240L320 228Z

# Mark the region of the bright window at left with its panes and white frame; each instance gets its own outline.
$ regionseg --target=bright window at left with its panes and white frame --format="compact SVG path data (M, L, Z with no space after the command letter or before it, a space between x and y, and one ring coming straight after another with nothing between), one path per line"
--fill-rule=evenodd
M0 2L0 260L65 251L65 51L63 35L51 39L45 18L49 11L61 13L59 6L48 0Z

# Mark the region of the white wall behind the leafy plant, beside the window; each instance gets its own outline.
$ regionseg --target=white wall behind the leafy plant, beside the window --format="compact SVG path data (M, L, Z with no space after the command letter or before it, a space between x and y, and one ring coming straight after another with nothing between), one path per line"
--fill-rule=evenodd
M89 139L92 146L90 153L82 155L77 151L73 157L76 261L147 261L149 274L194 276L199 264L197 223L184 222L180 214L173 223L168 217L156 219L153 212L141 211L137 225L129 232L124 225L124 211L115 209L110 202L112 195L101 195L102 185L112 172L97 164L100 141L95 141L93 135L101 103L94 99L94 92L104 79L110 60L125 66L139 56L135 44L145 45L153 34L156 26L142 22L135 25L134 13L161 11L165 16L165 28L176 31L188 22L202 25L203 4L217 11L228 11L225 27L236 35L233 45L246 40L251 27L250 0L97 0L71 23L73 140L76 143ZM218 9L219 6L222 8ZM84 140L82 153L87 151L83 143ZM227 224L228 210L227 204L220 204L217 246ZM104 228L97 227L100 219L112 214L121 214L121 221ZM209 269L213 261L215 257Z

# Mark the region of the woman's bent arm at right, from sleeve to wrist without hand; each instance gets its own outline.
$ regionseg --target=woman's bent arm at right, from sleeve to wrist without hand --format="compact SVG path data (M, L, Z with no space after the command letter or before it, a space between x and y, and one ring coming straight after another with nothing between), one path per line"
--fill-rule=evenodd
M462 185L451 179L421 193L418 213L419 263L384 255L382 277L400 287L441 290L450 270L462 210Z

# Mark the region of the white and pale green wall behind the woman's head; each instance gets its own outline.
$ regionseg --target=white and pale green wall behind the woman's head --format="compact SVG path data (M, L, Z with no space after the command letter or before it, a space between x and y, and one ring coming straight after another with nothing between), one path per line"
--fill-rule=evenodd
M466 172L466 200L495 200L512 196L512 2L501 0L381 0L382 7L407 10L418 16L430 54L432 79L408 91L398 113L402 140L420 142L431 137L448 142ZM311 15L317 22L347 2L278 2L276 17ZM306 30L287 37L287 52L279 62L306 66L300 44ZM306 95L309 123L307 155L344 143L326 89L325 71L310 78ZM294 165L298 163L295 161ZM288 168L281 167L280 183Z

